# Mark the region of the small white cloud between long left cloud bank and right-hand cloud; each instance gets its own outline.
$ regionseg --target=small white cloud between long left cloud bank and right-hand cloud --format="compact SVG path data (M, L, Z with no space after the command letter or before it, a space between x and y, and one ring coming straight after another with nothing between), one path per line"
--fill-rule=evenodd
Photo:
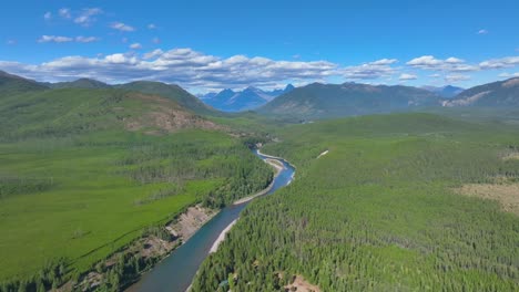
M396 69L391 64L396 62L398 62L396 59L381 59L357 66L347 66L342 71L344 76L349 80L375 80L395 74Z

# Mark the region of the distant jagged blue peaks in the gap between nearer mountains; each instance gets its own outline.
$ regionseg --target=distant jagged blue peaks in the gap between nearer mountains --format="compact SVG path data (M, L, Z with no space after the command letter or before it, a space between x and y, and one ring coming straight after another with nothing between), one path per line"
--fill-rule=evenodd
M262 91L253 86L237 92L227 88L218 93L207 93L201 96L201 100L223 112L243 112L257 108L294 88L292 84L286 85L284 90L274 91Z

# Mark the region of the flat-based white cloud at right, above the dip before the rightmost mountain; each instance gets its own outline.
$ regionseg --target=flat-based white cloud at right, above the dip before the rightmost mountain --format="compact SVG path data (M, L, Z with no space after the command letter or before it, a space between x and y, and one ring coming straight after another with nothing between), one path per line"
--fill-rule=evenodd
M406 64L415 69L446 72L471 72L479 70L477 65L467 64L464 60L454 56L441 60L436 59L434 55L423 55L410 60Z

